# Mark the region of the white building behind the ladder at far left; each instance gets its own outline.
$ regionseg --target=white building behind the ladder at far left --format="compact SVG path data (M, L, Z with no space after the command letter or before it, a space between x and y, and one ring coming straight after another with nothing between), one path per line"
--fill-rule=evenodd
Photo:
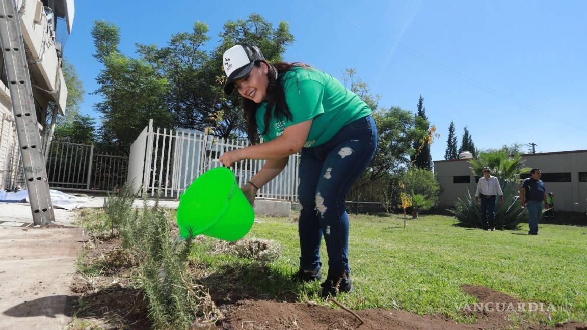
M73 0L17 0L22 37L31 78L39 134L51 127L48 114L65 115L68 88L61 63L63 47L59 33L70 33L75 14ZM58 29L59 21L63 22ZM65 31L66 30L66 31ZM16 137L11 95L0 52L0 190L25 186L21 154ZM43 141L44 144L45 141Z

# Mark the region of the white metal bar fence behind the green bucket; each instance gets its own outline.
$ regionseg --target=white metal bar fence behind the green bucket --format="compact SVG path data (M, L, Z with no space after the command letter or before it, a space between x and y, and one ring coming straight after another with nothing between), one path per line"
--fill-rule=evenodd
M220 167L217 161L226 151L248 146L245 139L222 139L194 130L154 129L148 127L130 148L128 182L135 192L149 196L161 191L161 197L178 198L191 181L205 170ZM247 183L265 164L265 160L242 160L233 170L239 186ZM296 201L298 199L299 154L275 179L262 187L258 197Z

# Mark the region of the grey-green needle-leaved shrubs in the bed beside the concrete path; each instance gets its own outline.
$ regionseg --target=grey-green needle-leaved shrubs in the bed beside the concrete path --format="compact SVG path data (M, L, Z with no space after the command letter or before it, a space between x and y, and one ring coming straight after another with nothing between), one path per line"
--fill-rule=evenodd
M108 194L103 216L84 220L87 228L110 231L111 236L120 237L122 248L80 269L101 274L107 267L138 267L137 284L149 302L154 329L214 324L222 314L207 291L193 282L187 267L193 237L182 241L174 234L158 199L151 207L144 197L143 205L133 208L134 197L129 187L123 186L119 193Z

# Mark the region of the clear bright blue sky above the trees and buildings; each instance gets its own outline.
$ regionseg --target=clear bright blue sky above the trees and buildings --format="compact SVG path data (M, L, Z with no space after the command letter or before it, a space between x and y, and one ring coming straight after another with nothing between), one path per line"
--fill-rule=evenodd
M210 27L211 41L228 20L261 14L287 21L295 42L286 60L311 63L342 79L356 68L380 105L416 111L419 95L440 139L448 125L460 144L468 126L478 149L512 142L537 151L587 149L587 1L95 1L77 0L65 56L88 94L82 113L99 117L89 95L101 69L92 56L92 21L121 29L120 50L166 45L171 34Z

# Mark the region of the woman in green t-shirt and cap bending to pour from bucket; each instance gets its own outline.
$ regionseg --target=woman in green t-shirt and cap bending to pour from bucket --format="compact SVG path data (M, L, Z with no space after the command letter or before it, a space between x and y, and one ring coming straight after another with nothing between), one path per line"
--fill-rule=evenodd
M269 63L256 46L239 44L224 52L224 91L242 96L251 146L220 157L225 166L243 159L265 165L241 187L249 201L276 177L288 157L301 151L298 198L301 256L295 280L321 279L322 236L328 276L322 295L352 289L346 194L365 171L377 146L371 109L338 80L303 63ZM264 143L257 142L258 134Z

